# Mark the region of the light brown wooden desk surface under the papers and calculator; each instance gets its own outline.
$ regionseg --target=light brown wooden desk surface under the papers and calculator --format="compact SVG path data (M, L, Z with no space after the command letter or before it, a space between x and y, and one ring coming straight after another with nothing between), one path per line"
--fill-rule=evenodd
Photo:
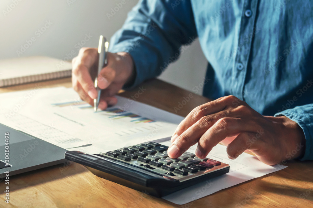
M71 87L70 79L40 82L39 87ZM147 89L137 101L175 113L174 106L190 92L160 80L141 85ZM0 89L0 93L33 89L34 84ZM120 95L131 97L138 89ZM194 95L177 114L186 116L209 100ZM313 162L293 161L282 171L269 174L210 196L178 206L139 191L96 177L82 165L61 164L10 177L10 204L0 207L313 207Z

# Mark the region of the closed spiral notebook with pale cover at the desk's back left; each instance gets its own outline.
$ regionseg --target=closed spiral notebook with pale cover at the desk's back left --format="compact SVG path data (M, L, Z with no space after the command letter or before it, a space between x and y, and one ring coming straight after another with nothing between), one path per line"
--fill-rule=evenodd
M46 56L0 60L0 87L71 76L72 64Z

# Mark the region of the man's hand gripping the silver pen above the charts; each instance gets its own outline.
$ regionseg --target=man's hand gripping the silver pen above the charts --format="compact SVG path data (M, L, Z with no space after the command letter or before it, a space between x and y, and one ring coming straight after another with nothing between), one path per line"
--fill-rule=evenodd
M97 97L94 80L98 76L98 87L102 89L99 102L101 110L117 103L114 95L134 76L134 64L128 53L108 52L107 58L108 63L99 75L97 75L99 55L96 48L81 48L78 56L72 60L73 88L82 100L92 106L93 100Z

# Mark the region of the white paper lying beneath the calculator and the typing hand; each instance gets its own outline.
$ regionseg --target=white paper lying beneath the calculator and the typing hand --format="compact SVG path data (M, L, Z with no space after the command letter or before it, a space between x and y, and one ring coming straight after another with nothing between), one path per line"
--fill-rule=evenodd
M169 139L158 140L158 143L169 146ZM187 150L187 152L195 153L197 144ZM191 201L200 199L204 196L215 193L222 189L235 186L239 183L249 181L251 179L264 176L266 174L282 170L287 166L275 165L269 166L259 161L259 159L248 153L242 153L237 159L230 160L227 157L226 146L218 144L207 156L220 162L229 164L229 173L222 176L197 183L170 195L162 197L163 199L178 205L183 205Z

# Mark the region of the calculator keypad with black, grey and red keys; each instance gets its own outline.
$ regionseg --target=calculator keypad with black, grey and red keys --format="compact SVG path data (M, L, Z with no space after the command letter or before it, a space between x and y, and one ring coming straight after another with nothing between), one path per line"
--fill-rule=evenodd
M166 145L149 142L106 152L103 155L182 181L229 166L209 158L200 159L192 152L184 152L178 158L170 158L167 149Z

